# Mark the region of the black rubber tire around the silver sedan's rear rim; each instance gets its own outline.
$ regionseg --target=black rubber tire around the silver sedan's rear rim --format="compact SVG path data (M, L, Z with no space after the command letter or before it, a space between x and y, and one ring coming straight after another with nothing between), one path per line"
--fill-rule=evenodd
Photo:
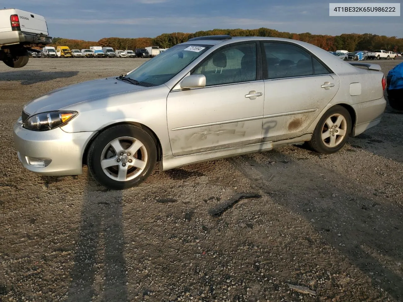
M326 120L333 116L334 114L340 114L345 118L346 125L345 125L345 135L343 138L340 138L339 143L335 147L328 147L324 144L322 141L322 132L323 129L325 128L325 122ZM338 125L340 126L340 125ZM330 129L328 129L330 131ZM325 131L327 132L327 130ZM339 151L343 146L347 143L349 135L351 132L351 116L348 112L348 110L340 105L335 105L332 108L329 108L325 112L325 114L320 118L318 124L315 127L314 134L312 135L312 139L308 142L308 145L311 149L318 153L325 153L325 154L330 154L330 153L335 153ZM335 134L335 133L333 133ZM335 134L336 137L338 137L337 134ZM334 135L333 135L334 136ZM329 137L330 139L330 137ZM338 138L337 138L338 139Z

